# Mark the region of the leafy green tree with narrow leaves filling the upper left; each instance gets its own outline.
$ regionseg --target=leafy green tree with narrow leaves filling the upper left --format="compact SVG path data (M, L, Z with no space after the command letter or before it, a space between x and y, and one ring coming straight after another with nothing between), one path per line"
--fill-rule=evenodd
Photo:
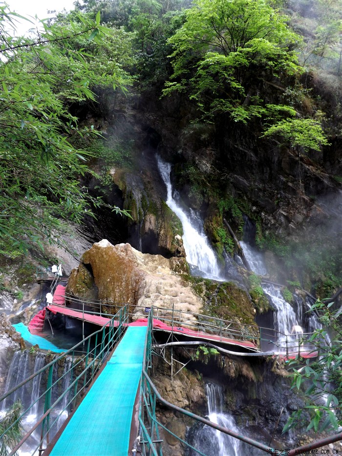
M99 14L69 26L44 23L36 40L9 34L17 16L0 7L0 233L2 245L25 250L29 241L51 239L60 220L81 222L90 202L100 204L80 186L89 172L85 152L68 140L93 128L79 128L67 106L95 101L92 87L123 88L125 78L85 50L110 34Z

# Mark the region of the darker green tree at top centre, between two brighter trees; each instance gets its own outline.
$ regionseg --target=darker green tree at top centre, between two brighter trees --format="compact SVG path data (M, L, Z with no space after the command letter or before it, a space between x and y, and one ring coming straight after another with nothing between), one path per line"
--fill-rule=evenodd
M135 65L132 68L135 87L159 90L171 74L167 39L182 21L181 9L190 0L85 0L76 8L90 15L101 11L108 25L123 28L134 37ZM153 85L153 86L152 86Z

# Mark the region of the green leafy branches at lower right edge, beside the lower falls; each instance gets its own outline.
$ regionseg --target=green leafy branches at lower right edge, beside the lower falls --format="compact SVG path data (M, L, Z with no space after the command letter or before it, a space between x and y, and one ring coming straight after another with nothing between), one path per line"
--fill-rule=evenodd
M283 432L293 427L323 431L342 425L342 308L330 301L311 306L311 311L321 314L323 328L328 328L316 329L308 341L319 356L314 361L307 359L301 369L298 360L289 364L293 388L304 392L306 405L292 414Z

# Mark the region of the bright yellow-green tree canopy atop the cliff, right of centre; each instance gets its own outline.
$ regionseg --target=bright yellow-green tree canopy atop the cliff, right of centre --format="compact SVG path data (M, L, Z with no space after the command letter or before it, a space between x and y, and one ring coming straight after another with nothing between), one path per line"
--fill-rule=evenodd
M269 127L297 115L280 96L276 103L261 96L265 85L286 85L302 71L295 52L301 37L271 2L196 0L169 42L173 75L164 94L174 90L188 94L202 118L214 122L224 114L245 124L260 118L269 136L273 132ZM314 149L319 145L317 140Z

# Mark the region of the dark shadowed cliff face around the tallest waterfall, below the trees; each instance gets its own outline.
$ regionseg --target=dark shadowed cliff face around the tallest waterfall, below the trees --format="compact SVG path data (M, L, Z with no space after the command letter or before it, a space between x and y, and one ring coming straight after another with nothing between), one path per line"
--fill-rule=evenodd
M271 100L272 90L268 96ZM319 251L324 240L327 244L332 242L327 238L341 204L339 141L326 146L322 153L299 155L260 138L257 123L247 127L225 116L210 125L194 121L194 107L181 95L160 99L153 89L144 93L139 103L134 97L122 98L120 109L125 112L124 120L113 119L106 135L108 139L120 137L123 129L125 141L134 143L132 164L130 168L113 165L108 174L113 182L112 193L120 196L121 207L130 211L132 219L113 219L112 231L120 231L120 235L111 236L107 229L102 237L113 244L129 242L144 253L166 258L184 256L176 240L177 235L182 235L179 220L165 204L166 188L155 158L159 154L173 164L171 180L180 195L180 204L200 211L219 255L229 238L222 216L241 238L243 223L237 220L237 208L257 223L259 240L264 240L265 250L274 237L286 246L299 245L299 250L300 244L307 243L299 261L291 266L283 261L284 277L274 275L272 280L282 282L291 278L313 293L318 290L312 283L320 277L321 282L325 281L321 268L315 265L303 278L307 264L300 261L313 244ZM220 209L222 201L227 200L233 201L233 206ZM120 230L118 225L122 225ZM101 230L98 231L100 236ZM102 239L98 236L94 240ZM333 256L333 251L329 255ZM322 264L318 255L307 263L313 264L315 258L316 264ZM291 270L298 263L297 270ZM335 269L329 274L339 275L339 267Z

